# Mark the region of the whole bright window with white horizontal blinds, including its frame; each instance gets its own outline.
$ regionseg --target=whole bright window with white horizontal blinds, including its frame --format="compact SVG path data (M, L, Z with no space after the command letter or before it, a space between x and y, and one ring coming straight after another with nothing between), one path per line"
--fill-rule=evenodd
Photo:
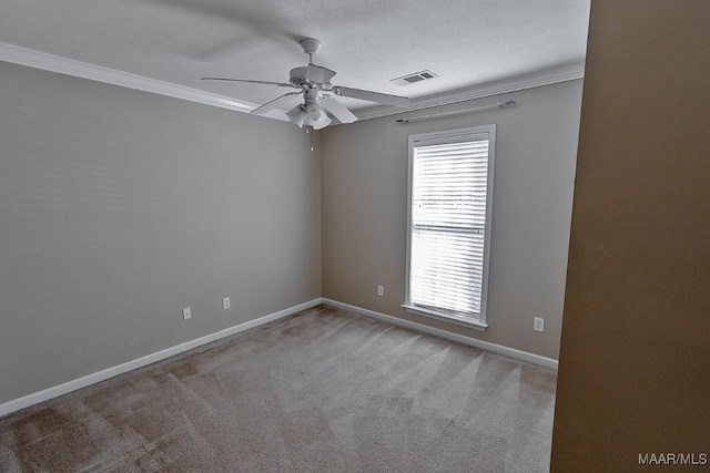
M408 311L487 327L495 132L409 136Z

